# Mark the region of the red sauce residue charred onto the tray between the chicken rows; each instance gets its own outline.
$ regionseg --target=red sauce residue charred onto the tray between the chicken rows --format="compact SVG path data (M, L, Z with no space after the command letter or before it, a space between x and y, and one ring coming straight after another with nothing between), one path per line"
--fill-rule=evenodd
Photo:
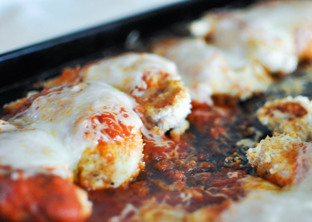
M224 160L239 153L236 142L249 136L246 129L252 120L247 116L237 104L193 104L191 127L180 141L164 138L167 146L158 146L144 138L146 168L134 182L126 188L89 192L94 205L88 220L128 221L147 202L154 208L165 204L189 213L243 197L239 179L247 174L244 165ZM236 176L229 176L232 173Z

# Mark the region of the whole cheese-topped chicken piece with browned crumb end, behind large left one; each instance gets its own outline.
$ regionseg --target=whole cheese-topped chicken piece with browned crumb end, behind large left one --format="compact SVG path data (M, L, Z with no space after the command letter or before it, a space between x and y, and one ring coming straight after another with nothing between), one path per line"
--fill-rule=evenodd
M180 135L188 128L189 90L183 86L176 65L165 58L126 53L81 69L67 69L44 86L75 81L103 81L129 94L141 106L136 111L144 125L158 134L173 129L173 135Z

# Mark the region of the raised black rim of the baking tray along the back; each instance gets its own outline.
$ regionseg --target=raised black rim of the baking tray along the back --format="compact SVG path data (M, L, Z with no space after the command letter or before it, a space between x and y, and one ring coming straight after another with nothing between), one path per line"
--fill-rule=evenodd
M162 32L170 32L173 26L191 21L209 9L241 7L251 2L180 2L4 53L0 55L0 105L25 96L34 82L56 76L65 67L76 67L126 51L125 43L129 34L148 39Z

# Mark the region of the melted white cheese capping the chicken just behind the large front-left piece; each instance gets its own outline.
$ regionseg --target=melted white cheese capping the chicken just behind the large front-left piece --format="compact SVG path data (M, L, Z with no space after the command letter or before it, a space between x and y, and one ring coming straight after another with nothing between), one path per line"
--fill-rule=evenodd
M168 80L181 80L176 65L168 59L149 53L126 53L121 56L91 63L82 69L85 81L104 81L120 90L142 96L145 91L135 88L147 88L144 73L157 75L167 73Z

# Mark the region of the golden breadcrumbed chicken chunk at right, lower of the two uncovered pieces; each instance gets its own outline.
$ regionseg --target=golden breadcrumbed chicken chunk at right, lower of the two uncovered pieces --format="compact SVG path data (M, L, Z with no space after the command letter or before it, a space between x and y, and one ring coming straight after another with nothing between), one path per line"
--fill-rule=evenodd
M247 159L259 177L284 187L294 183L303 167L298 154L306 149L306 144L295 132L275 133L261 140L255 148L247 150Z

